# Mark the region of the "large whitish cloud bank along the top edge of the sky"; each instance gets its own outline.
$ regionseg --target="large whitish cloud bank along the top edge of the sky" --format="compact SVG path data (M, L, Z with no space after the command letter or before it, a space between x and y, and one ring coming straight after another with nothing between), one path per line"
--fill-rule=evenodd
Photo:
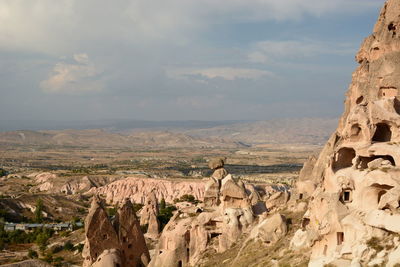
M181 44L215 23L363 12L383 0L1 0L0 49L72 53L82 42Z

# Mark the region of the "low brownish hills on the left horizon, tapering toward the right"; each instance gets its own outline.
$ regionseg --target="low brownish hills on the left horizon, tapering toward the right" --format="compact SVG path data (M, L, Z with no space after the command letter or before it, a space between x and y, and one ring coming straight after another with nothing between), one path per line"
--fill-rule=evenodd
M141 131L129 135L105 130L14 131L0 133L0 145L69 147L242 147L221 138L192 137L168 131Z

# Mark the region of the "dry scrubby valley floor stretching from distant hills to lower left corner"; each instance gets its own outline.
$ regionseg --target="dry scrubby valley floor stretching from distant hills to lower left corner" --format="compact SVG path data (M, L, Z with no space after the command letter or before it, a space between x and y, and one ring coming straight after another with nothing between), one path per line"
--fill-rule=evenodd
M86 192L93 187L102 188L126 177L201 182L212 174L207 162L214 157L226 157L225 168L246 182L290 185L302 163L321 148L318 144L249 145L148 130L136 131L135 138L126 143L120 134L103 130L0 134L0 166L7 171L0 178L2 217L5 221L34 222L37 200L41 199L44 222L82 222L91 199ZM108 206L110 212L113 207ZM2 264L32 257L29 251L59 266L80 265L83 260L79 253L83 229L52 233L45 250L35 239L10 242L10 238L6 241L4 237L6 244L1 244L5 249L0 253ZM69 243L74 248L65 249Z

